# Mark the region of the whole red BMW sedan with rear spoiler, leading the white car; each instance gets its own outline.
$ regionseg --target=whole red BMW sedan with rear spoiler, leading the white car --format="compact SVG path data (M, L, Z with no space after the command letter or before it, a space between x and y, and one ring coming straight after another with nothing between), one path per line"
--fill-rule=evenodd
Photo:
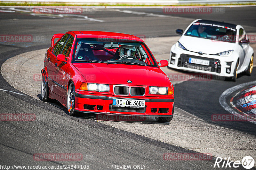
M56 43L55 40L57 39ZM174 89L148 46L138 37L101 31L54 34L44 58L41 97L95 114L156 117L170 122Z

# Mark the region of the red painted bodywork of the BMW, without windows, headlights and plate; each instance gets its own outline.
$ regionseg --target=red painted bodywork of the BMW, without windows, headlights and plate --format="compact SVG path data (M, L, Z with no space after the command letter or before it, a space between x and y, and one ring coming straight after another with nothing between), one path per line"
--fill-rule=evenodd
M108 64L108 63L72 63L75 42L77 38L98 38L98 39L124 39L143 42L140 38L129 34L101 31L72 31L67 32L74 37L71 52L66 58L67 62L58 61L53 54L54 47L49 47L44 58L44 68L49 87L49 97L58 100L63 106L67 107L68 85L74 82L75 85L75 110L85 113L103 113L120 115L143 115L143 116L171 116L173 112L174 94L172 95L152 95L149 94L149 86L171 87L173 85L169 78L159 67L149 67L129 64ZM64 34L61 34L64 35ZM54 34L55 38L60 38L60 34ZM144 42L143 42L144 43ZM146 45L145 45L146 46ZM146 46L147 47L147 46ZM147 47L148 48L148 47ZM147 52L148 53L148 52ZM149 51L149 53L151 53ZM151 56L153 54L151 53ZM132 84L127 83L131 80ZM82 83L109 84L109 92L84 91L80 90ZM145 87L144 96L117 96L113 91L113 85L140 86ZM111 104L113 98L143 99L146 101L144 112L125 112L113 111ZM84 105L95 105L95 109L84 109ZM103 106L98 109L97 106ZM152 112L152 108L157 108ZM159 113L161 108L167 108L167 113ZM114 109L115 110L115 109Z

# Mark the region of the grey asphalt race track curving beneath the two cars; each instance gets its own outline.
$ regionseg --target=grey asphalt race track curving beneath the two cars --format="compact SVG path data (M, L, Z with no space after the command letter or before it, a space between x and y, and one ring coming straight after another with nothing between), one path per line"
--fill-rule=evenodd
M239 74L236 82L173 81L177 108L170 124L154 120L142 123L98 121L92 115L71 117L61 104L42 102L40 89L35 88L38 83L40 87L40 81L28 78L41 68L41 59L50 46L52 35L70 30L146 36L145 42L157 60L169 59L170 48L179 38L175 30L185 29L197 18L240 24L247 33L256 35L256 7L224 9L225 13L169 14L163 13L162 8L88 8L83 14L60 16L35 14L29 8L0 7L0 11L5 11L0 12L1 36L33 37L30 42L0 41L0 113L36 115L35 121L0 121L0 165L89 165L90 169L144 165L145 169L215 169L213 165L218 156L230 156L232 160L240 161L244 156L255 159L255 123L211 119L212 114L229 114L221 106L220 96L229 88L255 81L255 67L251 76ZM256 51L256 41L251 46ZM31 67L26 69L23 66ZM167 67L163 70L167 74L189 74ZM225 100L229 101L246 88L232 91ZM164 153L198 152L213 157L211 160L163 159ZM36 153L79 153L83 159L36 161L33 159Z

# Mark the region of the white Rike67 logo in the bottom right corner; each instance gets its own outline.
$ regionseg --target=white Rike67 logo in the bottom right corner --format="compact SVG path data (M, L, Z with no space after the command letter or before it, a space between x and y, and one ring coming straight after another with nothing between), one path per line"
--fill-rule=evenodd
M223 161L223 162L222 162ZM216 160L215 160L215 163L214 163L214 168L215 167L218 167L218 168L231 168L232 166L234 168L238 168L239 165L242 164L242 166L245 168L245 169L251 169L253 166L254 166L254 159L251 157L251 156L245 156L242 161L240 160L236 160L236 161L233 161L231 160L230 161L230 157L227 158L224 158L222 159L221 157L217 157Z

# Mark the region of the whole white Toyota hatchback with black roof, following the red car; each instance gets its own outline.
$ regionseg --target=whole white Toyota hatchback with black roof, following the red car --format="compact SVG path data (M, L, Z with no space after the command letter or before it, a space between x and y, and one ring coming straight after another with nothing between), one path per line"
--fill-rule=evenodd
M253 49L241 25L197 19L176 33L181 37L171 48L169 67L233 81L239 73L251 75Z

